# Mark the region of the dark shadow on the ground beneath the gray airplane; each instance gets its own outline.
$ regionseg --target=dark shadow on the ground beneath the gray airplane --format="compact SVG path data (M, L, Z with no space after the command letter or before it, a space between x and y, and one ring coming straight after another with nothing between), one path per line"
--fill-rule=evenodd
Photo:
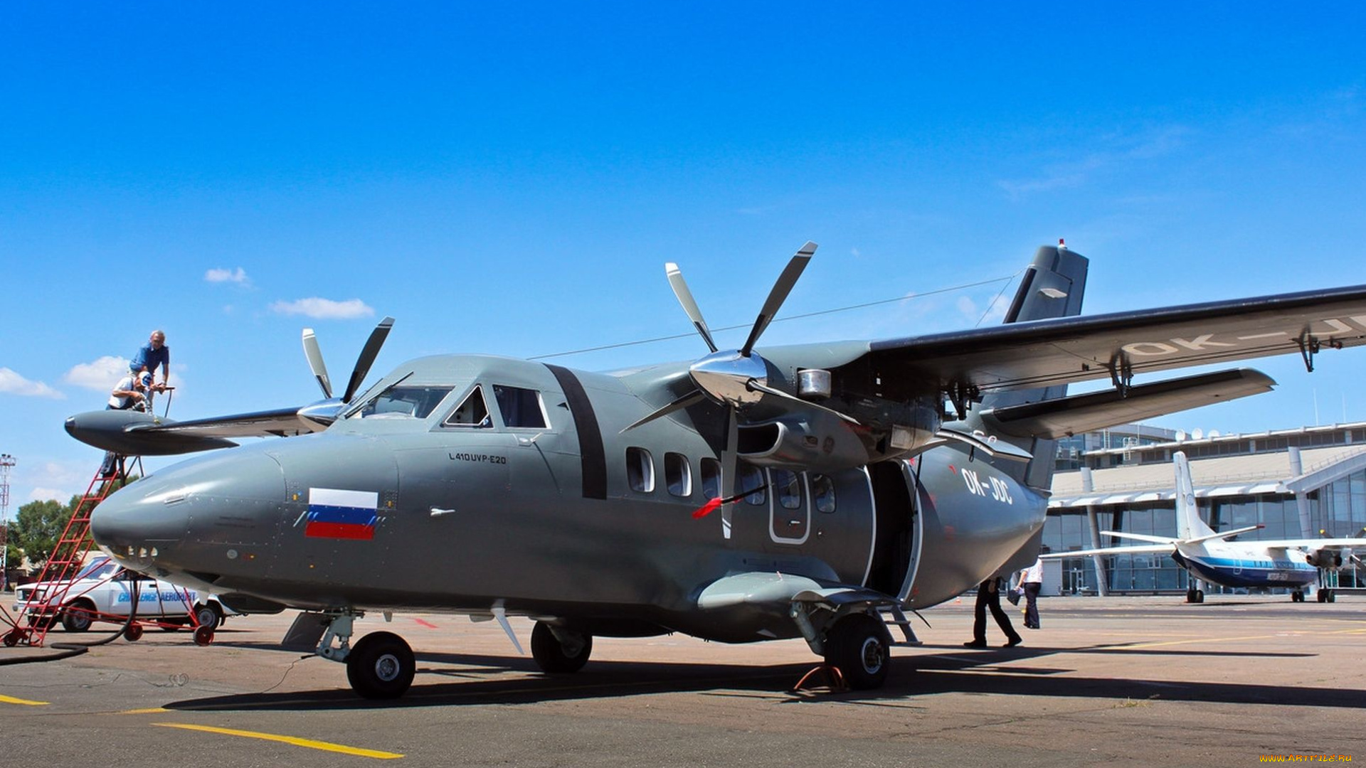
M239 648L275 649L266 644L224 644ZM922 646L922 649L926 646ZM930 646L934 648L934 646ZM1046 666L1057 653L1115 655L1126 664L1132 656L1164 657L1257 657L1283 659L1311 653L1257 653L1221 650L1138 649L1115 645L1094 648L1014 648L967 650L945 648L934 653L892 659L885 687L873 691L829 693L824 689L794 693L817 660L800 664L749 666L671 661L594 660L574 675L545 675L529 657L479 656L462 653L418 653L418 675L403 698L369 701L352 691L328 690L246 693L191 698L165 704L167 709L191 712L223 711L322 711L395 707L459 707L489 704L533 704L612 698L645 693L699 693L714 696L788 697L799 701L847 701L851 704L925 704L944 693L994 693L1009 696L1078 697L1106 700L1164 700L1221 704L1277 704L1283 707L1333 707L1366 709L1366 690L1314 689L1262 683L1205 681L1154 681L1123 676L1075 676L1071 668ZM1038 661L1030 666L1024 661ZM1008 666L1005 666L1009 663ZM1116 664L1119 670L1119 663ZM508 679L505 672L525 672ZM497 675L490 679L490 675ZM344 670L337 666L337 685Z

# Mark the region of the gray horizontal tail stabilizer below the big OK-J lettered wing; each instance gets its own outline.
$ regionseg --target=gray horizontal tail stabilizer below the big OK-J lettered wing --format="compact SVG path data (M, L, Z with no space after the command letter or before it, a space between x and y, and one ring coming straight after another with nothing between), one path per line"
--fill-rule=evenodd
M1187 409L1259 395L1269 392L1274 384L1276 381L1259 370L1238 368L1130 387L1123 396L1116 389L1106 389L1040 403L993 409L982 415L984 420L1007 435L1056 440L1070 435L1105 429L1116 424L1132 424Z

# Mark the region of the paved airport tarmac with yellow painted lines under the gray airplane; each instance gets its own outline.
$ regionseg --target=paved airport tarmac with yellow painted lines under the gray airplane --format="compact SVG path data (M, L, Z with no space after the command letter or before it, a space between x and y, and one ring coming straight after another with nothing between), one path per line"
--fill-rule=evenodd
M1050 597L1024 645L966 649L973 601L923 612L876 691L790 690L802 641L596 638L542 675L496 623L380 615L417 650L398 701L279 648L292 612L240 616L208 648L149 630L82 656L0 648L0 767L1251 765L1366 761L1366 596ZM531 625L512 619L523 648ZM97 640L56 630L48 642ZM895 627L893 627L895 633ZM994 623L988 640L1004 642ZM1298 757L1298 760L1296 760Z

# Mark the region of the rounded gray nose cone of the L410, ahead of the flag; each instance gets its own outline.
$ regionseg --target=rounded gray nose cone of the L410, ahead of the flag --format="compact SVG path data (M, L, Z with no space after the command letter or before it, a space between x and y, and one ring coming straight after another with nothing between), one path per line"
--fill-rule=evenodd
M223 532L273 527L269 512L283 503L280 465L265 452L239 448L180 462L127 485L96 507L90 533L126 566L169 567L180 564L179 555L194 543Z

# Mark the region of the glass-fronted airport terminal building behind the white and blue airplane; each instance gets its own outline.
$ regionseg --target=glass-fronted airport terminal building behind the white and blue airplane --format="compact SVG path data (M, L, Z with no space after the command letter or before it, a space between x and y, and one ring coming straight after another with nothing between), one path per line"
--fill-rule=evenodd
M1176 451L1190 459L1201 517L1214 530L1264 526L1239 541L1363 536L1366 422L1198 437L1127 425L1059 441L1044 545L1123 544L1101 530L1175 537ZM1187 578L1167 555L1079 556L1061 559L1056 586L1064 594L1175 593ZM1337 586L1366 586L1366 567L1344 564Z

